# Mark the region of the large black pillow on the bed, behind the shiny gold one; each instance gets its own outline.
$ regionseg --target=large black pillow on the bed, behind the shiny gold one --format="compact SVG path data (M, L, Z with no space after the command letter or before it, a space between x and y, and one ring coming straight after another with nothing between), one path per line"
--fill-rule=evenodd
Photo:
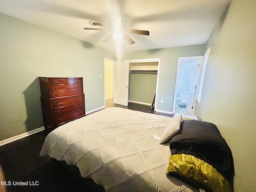
M233 186L234 162L218 128L209 122L182 121L180 132L170 140L171 154L188 154L207 162Z

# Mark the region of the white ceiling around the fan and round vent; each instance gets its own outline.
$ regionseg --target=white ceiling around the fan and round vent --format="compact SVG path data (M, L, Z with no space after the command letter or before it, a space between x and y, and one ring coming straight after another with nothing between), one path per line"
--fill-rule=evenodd
M0 0L0 12L66 34L90 44L122 51L204 44L230 0ZM149 36L128 34L136 43L114 38L111 31L92 28L90 20L112 27L112 17L126 28L148 30Z

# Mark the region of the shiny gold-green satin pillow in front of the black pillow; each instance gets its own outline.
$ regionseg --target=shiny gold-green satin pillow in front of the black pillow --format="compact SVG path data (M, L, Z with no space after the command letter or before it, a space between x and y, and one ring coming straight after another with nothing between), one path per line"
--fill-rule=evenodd
M207 192L233 192L231 184L214 167L191 155L171 155L166 174Z

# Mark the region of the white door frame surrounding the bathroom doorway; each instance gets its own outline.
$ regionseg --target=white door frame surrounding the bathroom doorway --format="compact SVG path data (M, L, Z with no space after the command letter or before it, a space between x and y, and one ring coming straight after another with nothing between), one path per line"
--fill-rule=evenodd
M177 72L176 72L176 80L175 80L175 88L174 88L174 97L173 97L173 105L172 105L172 113L174 114L175 112L175 103L176 103L176 94L177 94L177 86L178 86L178 77L179 77L179 71L180 71L180 63L182 60L188 60L188 59L200 59L199 63L199 68L197 72L197 78L196 78L196 92L195 92L195 97L194 97L194 104L193 104L193 110L192 110L192 115L195 114L195 109L196 109L196 97L198 94L198 86L199 86L199 80L200 80L200 75L201 75L201 69L202 69L202 63L204 56L188 56L188 57L178 57L178 63L177 63Z

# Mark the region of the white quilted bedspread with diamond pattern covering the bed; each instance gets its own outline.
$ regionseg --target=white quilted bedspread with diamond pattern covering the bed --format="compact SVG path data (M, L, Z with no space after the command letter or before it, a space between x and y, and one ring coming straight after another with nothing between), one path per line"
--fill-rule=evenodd
M40 156L77 166L108 191L198 192L167 176L169 146L161 136L170 117L123 108L105 108L52 131Z

